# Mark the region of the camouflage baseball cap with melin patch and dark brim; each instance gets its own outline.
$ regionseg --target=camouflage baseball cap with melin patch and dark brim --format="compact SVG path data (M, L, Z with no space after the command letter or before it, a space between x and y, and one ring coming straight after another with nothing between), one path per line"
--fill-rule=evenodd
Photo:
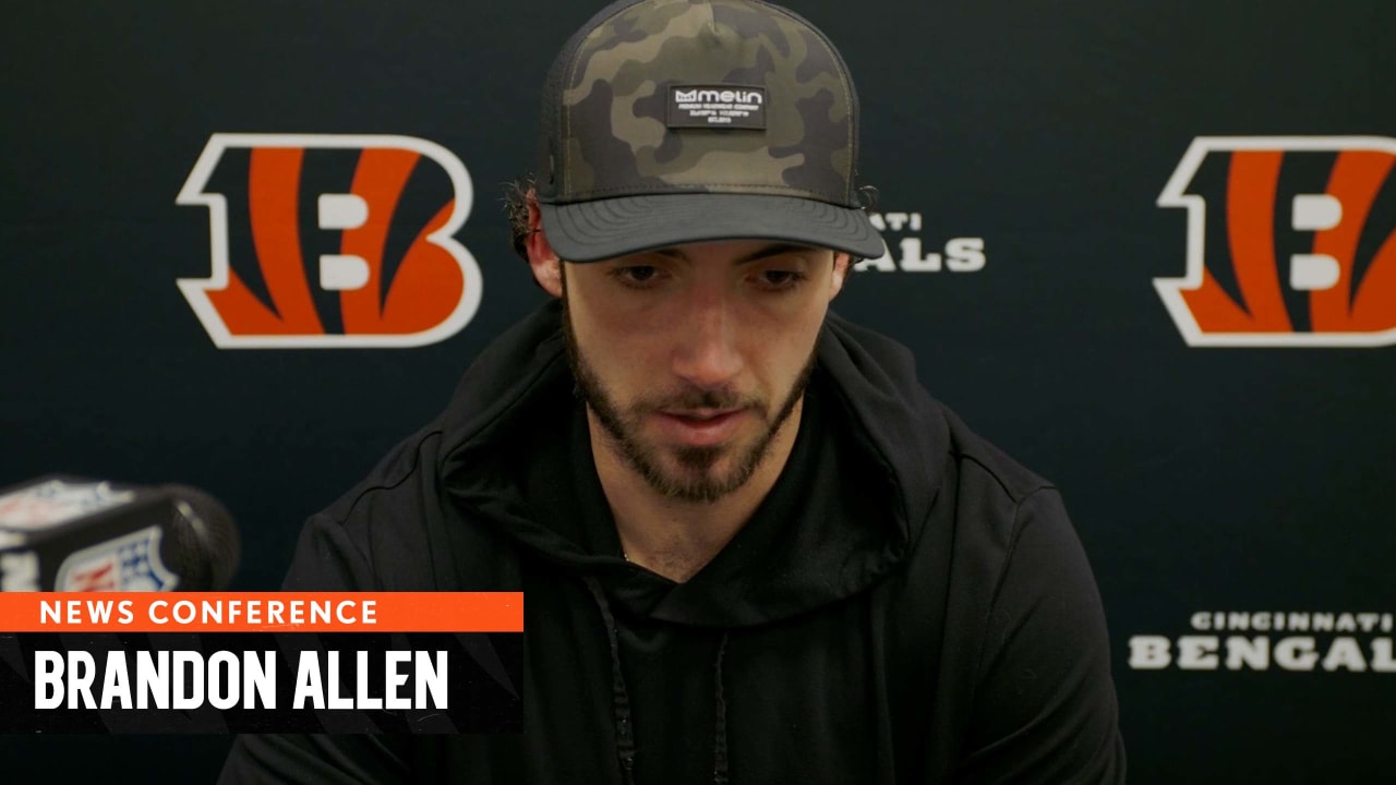
M884 251L847 67L778 6L607 6L553 61L540 130L543 229L568 261L726 239Z

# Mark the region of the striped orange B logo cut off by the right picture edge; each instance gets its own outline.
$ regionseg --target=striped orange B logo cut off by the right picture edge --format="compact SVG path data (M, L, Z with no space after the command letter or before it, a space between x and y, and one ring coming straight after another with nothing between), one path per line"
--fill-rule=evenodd
M1187 272L1154 286L1191 346L1396 344L1396 140L1198 137L1159 197Z

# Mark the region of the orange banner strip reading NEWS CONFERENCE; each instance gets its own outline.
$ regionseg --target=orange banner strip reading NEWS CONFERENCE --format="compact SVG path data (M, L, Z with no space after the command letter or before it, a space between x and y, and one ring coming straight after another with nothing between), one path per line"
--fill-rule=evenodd
M522 633L524 592L0 592L0 633Z

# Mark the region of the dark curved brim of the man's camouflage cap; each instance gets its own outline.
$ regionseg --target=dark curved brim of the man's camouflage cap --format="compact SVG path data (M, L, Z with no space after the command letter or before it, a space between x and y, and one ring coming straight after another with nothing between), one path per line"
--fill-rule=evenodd
M600 261L712 240L785 240L877 258L886 246L861 210L786 196L653 194L539 204L558 257Z

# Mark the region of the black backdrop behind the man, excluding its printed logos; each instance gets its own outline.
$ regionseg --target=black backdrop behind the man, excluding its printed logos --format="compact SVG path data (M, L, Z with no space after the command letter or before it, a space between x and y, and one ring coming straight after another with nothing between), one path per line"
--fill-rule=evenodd
M1356 638L1362 672L1233 670L1224 641L1216 669L1145 669L1129 641L1160 636L1177 654L1182 636L1289 634L1199 630L1201 610L1396 612L1396 348L1194 348L1154 288L1187 270L1187 211L1157 200L1195 138L1396 144L1396 4L790 4L854 73L861 170L886 219L920 217L886 233L893 270L859 272L836 310L906 342L933 394L1062 487L1110 617L1132 781L1392 777L1396 679L1372 656L1389 631L1308 633L1319 655ZM205 487L242 522L235 588L272 588L304 517L431 418L543 298L497 196L532 166L543 73L593 7L7 11L0 485L61 471ZM479 311L420 348L216 348L174 284L209 275L208 211L174 197L215 133L448 149L475 187L455 236L479 261ZM1314 190L1294 186L1305 176L1286 169L1282 191ZM1396 226L1390 190L1365 236ZM1289 203L1272 215L1287 229ZM984 264L902 270L907 237L923 256L979 239ZM1396 292L1372 295L1396 327ZM7 738L0 760L17 781L95 767L194 782L228 743Z

